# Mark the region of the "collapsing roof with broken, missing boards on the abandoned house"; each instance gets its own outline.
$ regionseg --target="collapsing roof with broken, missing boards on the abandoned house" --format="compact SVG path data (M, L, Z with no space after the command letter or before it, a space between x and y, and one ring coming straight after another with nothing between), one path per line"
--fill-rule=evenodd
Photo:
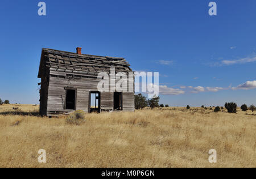
M129 73L132 71L130 64L124 58L93 56L43 48L38 78L42 78L47 69L97 76L100 72L110 74L111 67L115 67L115 72Z

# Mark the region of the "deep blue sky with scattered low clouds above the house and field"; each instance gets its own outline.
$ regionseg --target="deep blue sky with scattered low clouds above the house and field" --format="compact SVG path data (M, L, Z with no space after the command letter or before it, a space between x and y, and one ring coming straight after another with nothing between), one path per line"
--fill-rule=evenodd
M160 103L256 104L256 1L2 0L0 98L39 104L42 48L124 57L159 71ZM246 83L247 82L247 83Z

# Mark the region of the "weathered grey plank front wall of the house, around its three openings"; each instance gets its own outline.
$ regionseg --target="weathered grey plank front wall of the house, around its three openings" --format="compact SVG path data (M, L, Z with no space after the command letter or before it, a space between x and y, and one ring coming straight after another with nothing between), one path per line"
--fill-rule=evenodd
M64 75L65 73L51 71L50 74ZM73 87L77 89L76 110L88 112L89 91L97 91L97 85L100 80L94 78L67 79L49 76L47 111L63 110L65 105L64 88ZM127 80L128 83L129 80ZM113 109L113 92L101 92L101 109ZM123 92L123 111L134 111L134 92Z

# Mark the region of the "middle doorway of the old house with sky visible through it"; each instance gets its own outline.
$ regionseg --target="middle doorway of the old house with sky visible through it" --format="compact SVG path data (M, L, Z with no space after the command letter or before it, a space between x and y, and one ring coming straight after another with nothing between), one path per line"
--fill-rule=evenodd
M100 101L101 101L101 94L98 91L91 91L89 93L89 112L97 112L100 113Z

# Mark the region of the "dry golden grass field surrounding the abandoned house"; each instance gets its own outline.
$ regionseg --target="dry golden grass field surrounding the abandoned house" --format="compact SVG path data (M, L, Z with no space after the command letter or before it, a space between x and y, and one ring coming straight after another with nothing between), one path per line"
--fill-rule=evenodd
M13 107L18 107L14 110ZM256 116L204 108L38 117L39 106L0 106L0 167L256 167ZM247 113L247 114L246 114ZM38 163L38 150L47 163ZM217 163L208 161L217 151Z

